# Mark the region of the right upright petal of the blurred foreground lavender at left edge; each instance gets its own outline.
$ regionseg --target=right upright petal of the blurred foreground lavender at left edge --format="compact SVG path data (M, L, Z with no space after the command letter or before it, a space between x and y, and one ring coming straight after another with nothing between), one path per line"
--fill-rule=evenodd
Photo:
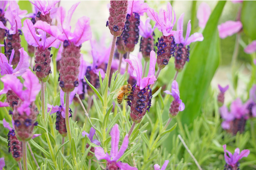
M41 90L41 85L37 76L35 76L30 69L27 69L27 71L22 75L22 78L24 78L25 81L23 84L27 88L24 91L24 99L30 102L35 101L37 94Z

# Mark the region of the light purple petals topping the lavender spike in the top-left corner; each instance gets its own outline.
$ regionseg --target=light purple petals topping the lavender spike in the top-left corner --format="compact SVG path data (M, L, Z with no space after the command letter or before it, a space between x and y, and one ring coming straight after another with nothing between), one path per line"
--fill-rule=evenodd
M8 29L4 23L0 21L0 28L9 30L9 34L16 34L21 29L21 18L27 13L26 10L20 10L19 5L15 1L9 1L4 17L9 21L11 28Z

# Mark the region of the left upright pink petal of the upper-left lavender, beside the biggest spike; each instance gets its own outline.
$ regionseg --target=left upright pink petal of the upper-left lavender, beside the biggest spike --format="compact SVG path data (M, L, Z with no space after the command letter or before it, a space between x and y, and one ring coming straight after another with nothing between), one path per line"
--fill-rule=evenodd
M26 19L23 22L22 31L24 33L25 39L28 42L29 45L32 45L34 47L39 47L40 45L40 37L41 35L36 34L35 27L31 20Z

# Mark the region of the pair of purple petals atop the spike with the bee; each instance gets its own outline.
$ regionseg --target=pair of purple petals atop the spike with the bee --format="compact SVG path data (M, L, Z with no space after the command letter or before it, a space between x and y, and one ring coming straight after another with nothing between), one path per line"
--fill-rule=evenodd
M141 55L141 53L139 53ZM153 84L154 81L156 81L155 76L155 65L156 65L156 53L154 51L150 52L150 63L149 63L149 70L148 70L148 76L142 78L142 64L138 57L130 54L130 59L125 59L124 61L128 62L130 65L130 69L132 72L131 76L134 76L137 78L137 86L139 86L139 89L144 89L150 84Z

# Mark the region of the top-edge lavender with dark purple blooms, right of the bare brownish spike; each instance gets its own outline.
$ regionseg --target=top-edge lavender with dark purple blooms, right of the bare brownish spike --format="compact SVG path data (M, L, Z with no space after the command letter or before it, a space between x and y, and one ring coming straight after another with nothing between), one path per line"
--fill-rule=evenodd
M139 42L140 16L143 16L147 9L148 4L144 3L144 1L128 1L128 9L125 22L126 28L122 33L124 50L126 52L134 51L135 44Z

